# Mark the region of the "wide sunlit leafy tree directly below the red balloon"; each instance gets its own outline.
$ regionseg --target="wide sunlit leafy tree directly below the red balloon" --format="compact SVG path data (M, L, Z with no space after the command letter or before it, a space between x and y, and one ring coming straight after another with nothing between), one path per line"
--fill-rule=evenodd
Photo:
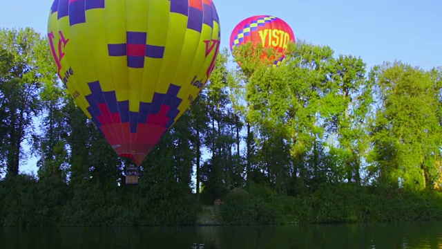
M332 55L327 46L298 42L289 46L282 66L258 66L249 77L246 101L260 148L258 171L278 190L321 181L318 122Z

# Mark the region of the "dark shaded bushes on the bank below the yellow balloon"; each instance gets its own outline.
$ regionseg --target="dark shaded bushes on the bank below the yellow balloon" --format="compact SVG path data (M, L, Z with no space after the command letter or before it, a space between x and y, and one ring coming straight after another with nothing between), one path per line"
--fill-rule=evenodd
M0 225L133 226L193 225L198 203L179 183L108 186L67 185L59 178L16 176L0 181Z

